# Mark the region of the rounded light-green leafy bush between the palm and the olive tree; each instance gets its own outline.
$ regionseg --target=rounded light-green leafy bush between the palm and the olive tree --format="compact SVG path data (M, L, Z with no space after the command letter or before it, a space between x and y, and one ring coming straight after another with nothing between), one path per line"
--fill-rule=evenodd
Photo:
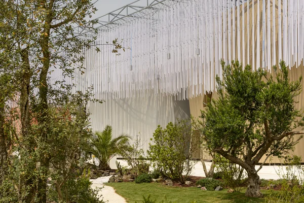
M188 161L194 150L191 138L189 120L170 122L164 129L159 125L155 130L151 139L155 144L149 144L148 156L163 177L185 182L193 167Z

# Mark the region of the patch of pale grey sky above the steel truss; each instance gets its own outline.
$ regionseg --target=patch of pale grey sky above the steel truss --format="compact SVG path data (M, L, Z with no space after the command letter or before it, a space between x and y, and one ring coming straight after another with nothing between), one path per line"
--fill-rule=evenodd
M94 2L94 0L92 0L92 2ZM135 2L135 0L99 0L95 4L97 11L93 15L93 19L119 9L132 2Z

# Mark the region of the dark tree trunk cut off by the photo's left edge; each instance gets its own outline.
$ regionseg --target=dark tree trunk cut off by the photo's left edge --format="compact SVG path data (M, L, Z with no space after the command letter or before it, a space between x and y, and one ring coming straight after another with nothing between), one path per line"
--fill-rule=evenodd
M7 166L7 149L4 134L4 107L0 107L0 185L5 179Z

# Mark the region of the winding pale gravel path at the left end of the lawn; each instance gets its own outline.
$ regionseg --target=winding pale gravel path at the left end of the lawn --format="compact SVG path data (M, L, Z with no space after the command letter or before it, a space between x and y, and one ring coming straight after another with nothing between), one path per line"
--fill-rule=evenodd
M106 186L103 183L107 183L110 176L100 177L97 179L91 179L92 188L102 188L101 191L98 192L98 195L102 195L101 199L107 203L127 203L126 199L119 194L117 194L114 188L110 186Z

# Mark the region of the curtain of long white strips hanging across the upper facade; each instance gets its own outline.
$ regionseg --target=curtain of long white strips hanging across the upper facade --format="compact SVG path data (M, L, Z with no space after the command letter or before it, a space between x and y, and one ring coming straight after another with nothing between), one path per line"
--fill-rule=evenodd
M99 18L95 44L117 38L126 50L84 49L85 74L64 79L78 85L75 91L92 85L96 98L153 93L186 99L215 90L221 60L269 72L280 60L290 68L302 63L302 0L142 0L145 6L135 6L139 2ZM60 70L52 77L62 77Z

